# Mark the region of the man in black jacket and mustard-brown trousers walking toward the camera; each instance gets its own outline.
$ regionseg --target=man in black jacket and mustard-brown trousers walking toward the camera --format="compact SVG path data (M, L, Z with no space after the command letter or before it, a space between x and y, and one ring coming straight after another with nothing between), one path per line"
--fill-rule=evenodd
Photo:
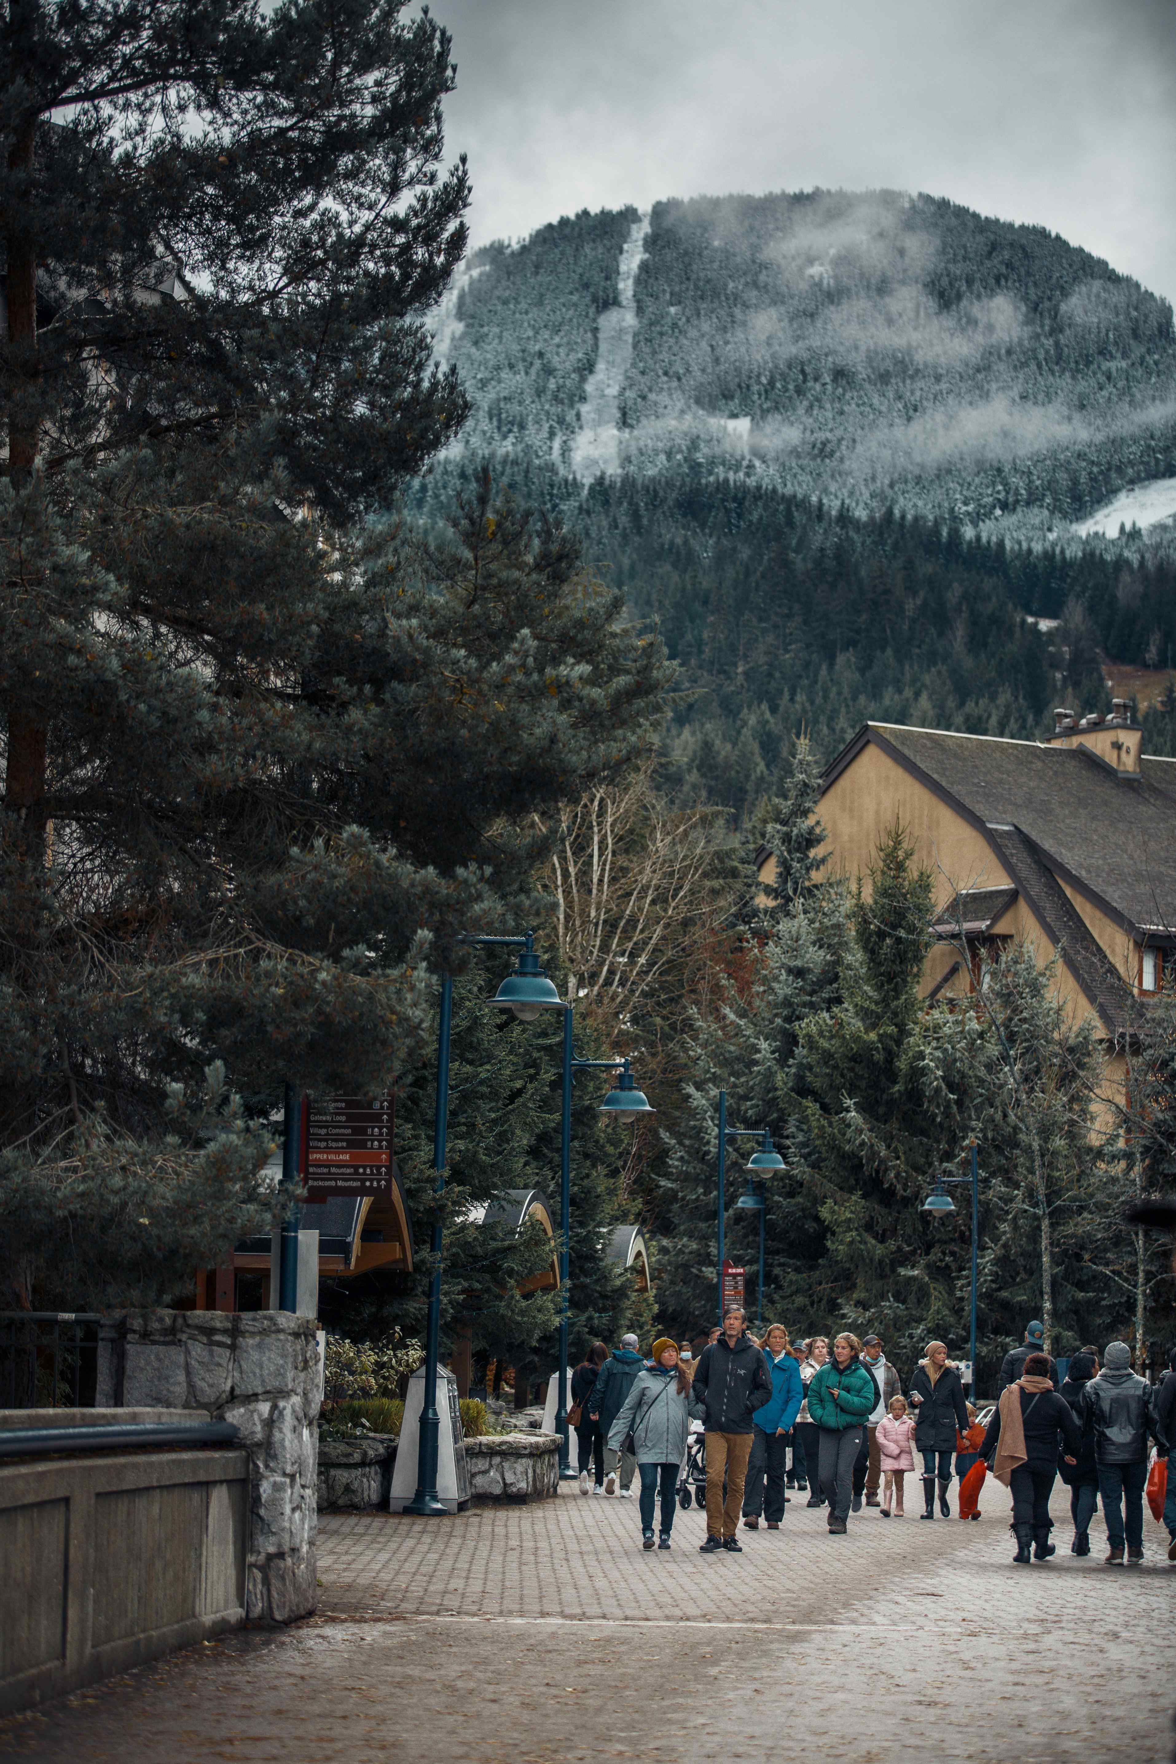
M751 1416L772 1395L767 1360L744 1328L744 1312L732 1305L723 1314L723 1334L698 1357L691 1397L702 1404L707 1429L707 1542L703 1554L718 1549L739 1552ZM726 1473L726 1501L723 1475Z

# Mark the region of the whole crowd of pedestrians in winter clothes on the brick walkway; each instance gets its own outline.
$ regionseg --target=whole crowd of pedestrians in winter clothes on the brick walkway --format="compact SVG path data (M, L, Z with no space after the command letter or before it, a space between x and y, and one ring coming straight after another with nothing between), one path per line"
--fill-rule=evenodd
M1054 1480L1070 1491L1076 1556L1090 1554L1090 1524L1102 1505L1109 1565L1143 1559L1143 1499L1150 1446L1167 1457L1176 1429L1176 1353L1157 1387L1132 1371L1127 1342L1074 1355L1065 1383L1030 1323L1005 1355L987 1425L964 1399L947 1346L931 1341L906 1392L878 1335L845 1330L792 1342L783 1323L760 1339L732 1305L695 1357L689 1342L661 1337L649 1358L636 1335L612 1353L596 1342L571 1378L568 1416L578 1443L580 1492L631 1499L640 1480L644 1549L670 1549L679 1478L691 1422L705 1438L707 1536L703 1554L739 1554L739 1526L779 1531L788 1489L827 1506L830 1536L853 1514L904 1517L906 1476L922 1476L920 1519L980 1519L986 1476L1009 1489L1016 1563L1047 1561ZM702 1471L698 1473L702 1475ZM1158 1499L1158 1496L1157 1496ZM1176 1485L1164 1505L1169 1559L1176 1561Z

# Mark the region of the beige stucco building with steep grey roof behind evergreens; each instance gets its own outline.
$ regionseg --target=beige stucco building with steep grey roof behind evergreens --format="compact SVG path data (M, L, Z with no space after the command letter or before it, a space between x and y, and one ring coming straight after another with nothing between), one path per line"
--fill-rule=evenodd
M973 991L980 956L1024 938L1074 1013L1093 1016L1107 1078L1141 997L1176 960L1176 760L1109 718L1058 713L1049 741L867 723L822 778L825 873L860 877L896 820L934 878L927 998ZM760 877L774 873L760 852Z

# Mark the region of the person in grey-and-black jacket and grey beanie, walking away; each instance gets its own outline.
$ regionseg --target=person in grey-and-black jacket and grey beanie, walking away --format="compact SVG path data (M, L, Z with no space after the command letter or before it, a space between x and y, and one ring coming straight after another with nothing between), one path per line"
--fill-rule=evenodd
M1132 1372L1132 1351L1125 1341L1113 1341L1102 1357L1098 1378L1083 1390L1084 1425L1095 1436L1098 1494L1107 1521L1109 1563L1143 1561L1143 1491L1148 1485L1148 1434L1160 1450L1167 1441L1160 1429L1155 1390L1146 1378ZM1123 1512L1125 1510L1125 1512Z

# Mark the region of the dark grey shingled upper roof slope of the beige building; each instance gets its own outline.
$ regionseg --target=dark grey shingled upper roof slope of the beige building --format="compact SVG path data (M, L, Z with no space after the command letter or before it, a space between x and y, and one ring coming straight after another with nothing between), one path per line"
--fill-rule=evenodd
M1116 774L1079 748L869 723L873 737L987 827L1016 827L1049 868L1134 933L1176 926L1176 760ZM1076 916L1077 917L1077 916Z

